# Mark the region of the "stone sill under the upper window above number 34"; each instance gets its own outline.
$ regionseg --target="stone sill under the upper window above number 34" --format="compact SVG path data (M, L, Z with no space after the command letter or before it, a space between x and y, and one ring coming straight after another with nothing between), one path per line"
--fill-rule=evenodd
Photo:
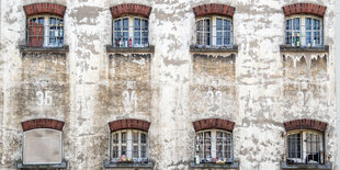
M106 53L155 53L155 46L148 47L114 47L106 45Z

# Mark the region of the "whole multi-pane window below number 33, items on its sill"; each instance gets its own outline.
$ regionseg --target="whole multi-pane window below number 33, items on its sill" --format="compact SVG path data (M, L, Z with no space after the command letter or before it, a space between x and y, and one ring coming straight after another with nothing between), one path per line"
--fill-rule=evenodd
M195 163L231 162L233 134L226 131L208 129L196 133Z

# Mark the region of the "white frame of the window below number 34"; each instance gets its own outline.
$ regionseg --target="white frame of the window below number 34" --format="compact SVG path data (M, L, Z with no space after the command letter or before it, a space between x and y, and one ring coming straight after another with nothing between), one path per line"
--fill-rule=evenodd
M126 133L126 141L123 143L122 140L122 133ZM138 134L137 137L137 144L135 144L134 139L134 133ZM113 135L117 135L117 144L114 144L114 137ZM146 143L141 143L141 135L146 135ZM112 162L118 162L118 159L122 158L123 156L123 147L125 147L125 157L127 159L131 159L134 162L145 162L148 160L148 133L139 129L121 129L121 131L115 131L110 134L110 159ZM134 155L134 147L137 146L137 157ZM117 147L117 155L114 157L114 149L113 147ZM145 157L143 157L143 147L146 148L145 150Z

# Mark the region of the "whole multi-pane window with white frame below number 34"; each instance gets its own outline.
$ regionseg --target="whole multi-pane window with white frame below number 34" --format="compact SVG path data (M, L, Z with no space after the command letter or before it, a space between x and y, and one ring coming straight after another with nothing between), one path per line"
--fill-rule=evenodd
M111 161L147 162L148 135L143 131L122 129L111 134Z

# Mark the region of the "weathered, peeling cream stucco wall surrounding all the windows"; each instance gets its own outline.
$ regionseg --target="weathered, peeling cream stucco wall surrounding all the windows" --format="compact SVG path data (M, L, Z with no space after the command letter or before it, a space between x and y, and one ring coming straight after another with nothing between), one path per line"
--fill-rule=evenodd
M315 118L328 123L327 158L338 168L335 111L335 0L53 0L67 7L60 54L22 54L24 4L46 0L1 0L0 161L15 169L21 159L20 122L65 121L64 158L69 169L103 169L109 158L107 123L140 118L149 128L155 169L189 169L193 160L192 122L218 117L236 123L234 157L241 170L279 170L283 122ZM190 53L194 44L192 8L203 3L236 8L238 53ZM326 54L280 53L284 42L282 7L326 5ZM151 5L154 54L106 54L111 44L109 8ZM124 67L124 68L122 68ZM41 73L44 72L44 73ZM38 106L36 91L52 91L53 104ZM132 98L135 91L135 98ZM128 97L128 98L126 98Z

